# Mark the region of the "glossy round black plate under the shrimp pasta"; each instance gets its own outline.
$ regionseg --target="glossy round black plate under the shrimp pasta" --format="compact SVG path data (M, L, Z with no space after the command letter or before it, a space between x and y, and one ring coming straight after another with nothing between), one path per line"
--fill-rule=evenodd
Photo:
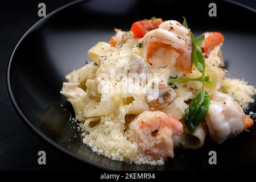
M175 159L168 159L164 166L112 161L81 143L77 124L69 121L74 117L72 106L59 93L64 76L85 64L90 47L107 41L114 34L114 27L129 30L135 20L151 16L180 22L185 16L196 35L221 31L230 75L256 85L255 11L226 1L211 2L217 5L217 17L208 16L207 1L82 1L61 7L32 26L11 55L7 83L16 110L48 142L101 168L256 169L255 127L221 145L213 144L208 136L199 150L177 148ZM254 105L251 109L256 111ZM208 163L211 150L217 152L216 166Z

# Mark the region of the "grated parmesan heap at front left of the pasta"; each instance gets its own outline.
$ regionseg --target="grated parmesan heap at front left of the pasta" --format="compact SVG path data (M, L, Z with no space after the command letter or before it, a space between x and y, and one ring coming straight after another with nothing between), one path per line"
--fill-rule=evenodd
M87 144L93 152L104 155L113 160L133 162L136 164L163 165L164 160L153 160L150 156L138 154L137 144L132 143L125 135L124 107L120 107L117 115L110 114L101 117L97 127L90 133L82 133L82 142ZM86 130L84 124L81 129Z

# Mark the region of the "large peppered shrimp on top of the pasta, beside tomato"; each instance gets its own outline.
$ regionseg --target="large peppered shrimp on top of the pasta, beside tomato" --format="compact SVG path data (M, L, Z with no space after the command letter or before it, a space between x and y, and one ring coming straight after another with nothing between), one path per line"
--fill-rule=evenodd
M189 30L175 20L160 24L159 28L144 35L144 59L152 68L174 67L184 72L192 68L192 40Z

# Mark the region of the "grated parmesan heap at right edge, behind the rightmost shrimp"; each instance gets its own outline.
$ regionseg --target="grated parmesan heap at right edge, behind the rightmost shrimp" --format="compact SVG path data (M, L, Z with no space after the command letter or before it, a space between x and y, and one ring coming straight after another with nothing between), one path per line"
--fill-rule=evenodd
M220 92L233 97L238 105L243 110L246 110L248 109L248 105L254 102L253 97L256 94L256 89L244 80L225 78L221 84Z

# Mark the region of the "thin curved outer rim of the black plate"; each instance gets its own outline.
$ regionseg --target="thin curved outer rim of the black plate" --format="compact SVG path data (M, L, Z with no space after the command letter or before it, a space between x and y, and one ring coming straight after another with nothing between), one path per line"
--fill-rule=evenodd
M16 49L19 47L19 44L23 41L24 38L26 38L26 36L28 34L30 34L34 28L36 26L39 26L41 23L43 23L44 21L46 21L48 18L51 18L52 15L58 13L59 11L67 8L67 7L70 7L70 6L73 6L73 5L76 5L76 4L79 4L81 2L89 2L90 0L76 0L76 1L73 1L73 2L69 2L63 6L60 6L58 7L57 9L53 10L51 13L47 14L44 18L41 18L39 19L36 23L34 23L30 28L28 28L28 30L21 36L21 38L18 40L18 42L15 44L15 47L13 48L13 51L11 52L11 56L10 56L10 59L9 59L9 62L7 64L7 72L6 72L6 84L7 84L7 91L9 93L9 97L10 97L10 100L11 100L11 103L15 109L15 113L17 113L19 115L19 118L25 123L31 127L31 129L34 131L34 133L38 134L41 138L43 138L45 141L47 141L49 144L51 144L53 147L56 147L58 150L60 150L61 152L64 152L65 154L69 155L69 156L72 156L73 158L75 159L78 159L80 160L81 162L84 162L86 164L89 164L89 165L92 165L94 167L98 167L98 168L101 168L101 169L105 169L105 170L120 170L120 169L116 169L116 168L112 168L112 167L106 167L102 164L99 164L99 163L96 163L96 162L92 162L91 160L88 160L88 159L85 159L85 158L82 158L81 156L67 150L66 148L64 148L63 146L60 146L59 144L57 144L56 142L54 142L53 140L51 140L50 138L48 138L46 135L44 135L40 130L38 130L34 125L32 125L32 123L30 122L30 119L28 119L26 117L26 115L23 113L23 111L20 109L20 106L18 105L18 103L16 102L15 98L14 98L14 94L13 94L13 90L11 88L11 78L10 78L10 72L11 72L11 63L12 63L12 60L13 60L13 57L15 55L15 52L16 52ZM253 11L254 13L256 13L256 10L253 9L252 7L249 7L249 6L246 6L246 5L243 5L242 3L239 3L239 2L234 2L232 0L220 0L220 1L225 1L227 3L232 3L233 5L236 5L236 6L240 6L244 9L247 9L249 11ZM98 154L96 154L98 155ZM104 156L106 158L106 156ZM112 159L110 159L112 160ZM129 163L127 163L127 165L129 165Z

